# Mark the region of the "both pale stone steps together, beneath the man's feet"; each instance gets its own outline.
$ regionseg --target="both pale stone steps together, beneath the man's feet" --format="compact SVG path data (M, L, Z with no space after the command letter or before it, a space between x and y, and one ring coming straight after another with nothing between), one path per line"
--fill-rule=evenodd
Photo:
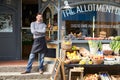
M18 62L16 64L16 62ZM11 63L1 63L0 62L0 80L50 80L50 76L54 66L54 60L45 60L44 67L45 72L40 74L38 72L38 62L35 61L31 70L31 73L21 74L25 71L26 62L11 62Z

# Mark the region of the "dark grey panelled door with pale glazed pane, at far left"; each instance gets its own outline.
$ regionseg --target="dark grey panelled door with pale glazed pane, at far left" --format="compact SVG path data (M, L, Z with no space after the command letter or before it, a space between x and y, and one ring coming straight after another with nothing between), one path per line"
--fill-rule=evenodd
M0 0L0 60L21 59L21 0Z

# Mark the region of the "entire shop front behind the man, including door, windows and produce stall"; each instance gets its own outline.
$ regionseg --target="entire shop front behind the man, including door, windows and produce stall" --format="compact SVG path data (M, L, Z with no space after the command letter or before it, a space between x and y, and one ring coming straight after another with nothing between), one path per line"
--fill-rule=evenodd
M34 1L21 7L21 0L0 0L0 60L26 59L32 45L30 22L40 11L48 25L48 48L56 49L49 56L63 60L68 75L73 67L84 67L85 74L120 74L119 0Z

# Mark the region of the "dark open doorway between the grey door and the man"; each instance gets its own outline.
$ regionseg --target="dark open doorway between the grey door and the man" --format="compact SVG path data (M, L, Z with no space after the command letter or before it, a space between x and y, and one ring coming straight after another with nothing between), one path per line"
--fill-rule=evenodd
M32 47L30 23L35 21L38 12L38 0L22 0L22 59L27 59Z

